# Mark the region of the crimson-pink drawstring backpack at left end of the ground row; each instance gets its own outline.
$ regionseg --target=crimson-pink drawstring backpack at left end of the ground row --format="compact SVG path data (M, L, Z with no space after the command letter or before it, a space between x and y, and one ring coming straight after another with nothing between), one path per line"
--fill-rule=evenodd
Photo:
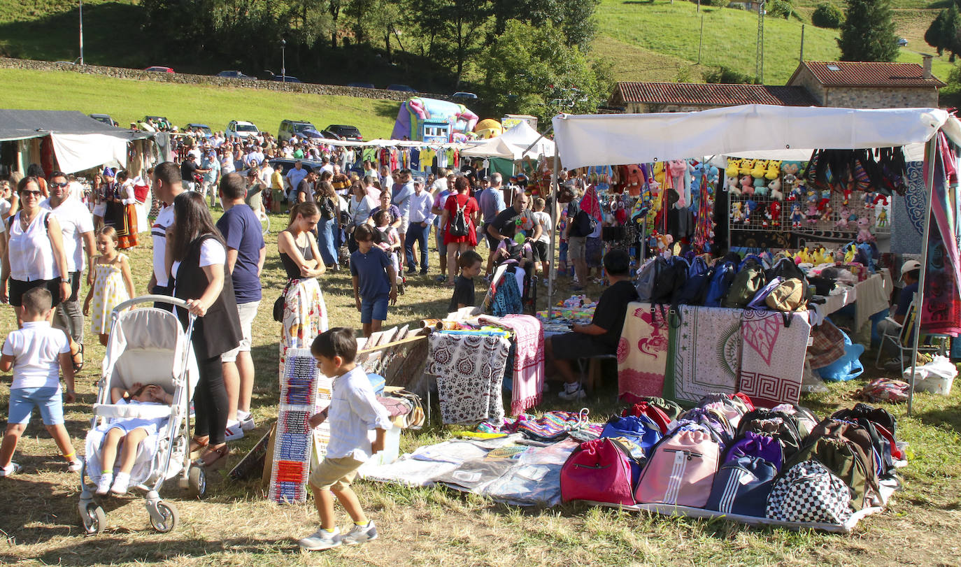
M633 505L632 460L624 446L607 437L581 443L560 469L561 500Z

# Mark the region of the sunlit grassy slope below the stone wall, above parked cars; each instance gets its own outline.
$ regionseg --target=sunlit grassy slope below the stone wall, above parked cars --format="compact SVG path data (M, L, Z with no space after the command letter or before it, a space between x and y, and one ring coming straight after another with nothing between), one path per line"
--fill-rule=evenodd
M0 69L0 91L3 108L106 112L121 126L151 114L165 115L178 125L204 122L217 130L233 119L250 120L276 134L281 120L295 118L318 128L354 124L368 139L390 136L398 109L397 102L386 100L175 85L70 71Z

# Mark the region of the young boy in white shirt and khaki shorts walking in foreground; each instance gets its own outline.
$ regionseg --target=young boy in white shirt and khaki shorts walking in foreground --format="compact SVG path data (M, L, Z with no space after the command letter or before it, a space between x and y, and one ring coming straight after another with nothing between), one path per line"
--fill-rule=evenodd
M331 405L309 420L312 428L325 420L331 423L327 455L310 473L309 480L313 502L320 514L320 530L299 542L301 549L313 552L377 539L377 528L363 513L350 485L357 477L360 465L383 450L390 417L374 397L367 373L354 362L357 340L353 330L336 327L318 334L310 352L317 359L317 368L333 378ZM370 430L377 432L373 442L367 438ZM343 536L334 522L333 496L354 520L354 526Z

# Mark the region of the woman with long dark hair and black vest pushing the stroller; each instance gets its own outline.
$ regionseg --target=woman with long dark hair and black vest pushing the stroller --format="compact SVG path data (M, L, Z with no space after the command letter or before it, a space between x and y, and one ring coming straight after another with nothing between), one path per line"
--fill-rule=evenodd
M222 462L227 447L227 389L220 355L240 344L234 284L227 277L227 247L204 197L185 191L174 199L174 222L167 229L166 266L174 296L183 299L197 316L193 325L193 353L200 380L194 390L194 436L191 452L206 448L197 463L205 467ZM187 313L177 308L186 328Z

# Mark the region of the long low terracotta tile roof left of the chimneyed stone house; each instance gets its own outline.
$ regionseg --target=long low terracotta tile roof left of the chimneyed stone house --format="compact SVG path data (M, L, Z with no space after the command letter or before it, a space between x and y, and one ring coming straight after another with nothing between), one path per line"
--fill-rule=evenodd
M618 83L624 103L727 107L736 105L817 106L802 86L697 83Z

